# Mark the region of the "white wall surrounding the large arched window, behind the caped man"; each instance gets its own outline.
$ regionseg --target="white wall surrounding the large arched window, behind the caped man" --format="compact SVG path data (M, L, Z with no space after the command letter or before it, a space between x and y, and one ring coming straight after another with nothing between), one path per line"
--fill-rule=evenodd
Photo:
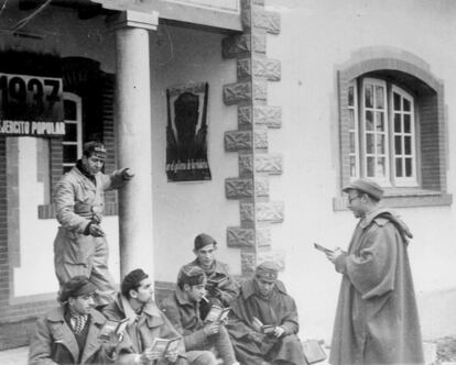
M269 104L283 108L283 128L269 134L270 152L284 154L284 174L272 178L271 199L285 202L285 221L273 228L272 239L274 248L287 252L282 278L297 300L302 336L328 340L340 276L312 243L346 247L356 224L350 212L334 212L332 202L339 193L337 66L360 48L384 46L430 64L431 73L445 84L448 192L454 193L456 4L449 0L267 0L267 9L281 14L282 26L279 35L268 35L267 43L268 57L282 62L282 80L269 82L268 90ZM456 288L455 209L399 211L415 236L409 253L423 334L452 333L454 329L442 327L442 321L435 324L447 312L437 312L433 303L439 300L439 290Z

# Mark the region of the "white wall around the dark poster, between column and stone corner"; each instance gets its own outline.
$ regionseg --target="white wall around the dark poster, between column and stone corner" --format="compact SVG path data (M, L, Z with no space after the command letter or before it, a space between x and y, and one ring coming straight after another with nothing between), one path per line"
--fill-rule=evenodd
M237 108L222 103L224 84L236 81L236 62L221 59L219 34L159 26L152 34L152 174L155 279L175 281L194 258L194 237L206 232L218 244L218 258L240 274L239 250L227 248L226 229L239 225L239 203L225 198L225 178L238 176L238 156L224 151L224 132L237 129ZM210 181L167 182L165 128L167 87L209 82L208 161Z

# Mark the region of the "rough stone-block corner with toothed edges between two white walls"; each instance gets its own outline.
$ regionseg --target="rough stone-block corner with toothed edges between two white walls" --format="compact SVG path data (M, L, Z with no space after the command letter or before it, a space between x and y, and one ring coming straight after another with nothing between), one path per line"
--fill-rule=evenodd
M227 229L229 247L241 250L242 275L274 258L284 266L284 253L274 251L271 226L283 221L283 202L271 200L269 180L283 170L282 154L270 152L270 130L282 125L282 110L268 104L268 81L280 81L281 64L267 56L267 34L280 32L278 13L263 0L242 0L243 33L224 38L224 58L236 58L237 82L224 86L224 102L238 107L238 129L225 133L225 151L237 152L239 176L227 178L228 199L239 200L240 225Z

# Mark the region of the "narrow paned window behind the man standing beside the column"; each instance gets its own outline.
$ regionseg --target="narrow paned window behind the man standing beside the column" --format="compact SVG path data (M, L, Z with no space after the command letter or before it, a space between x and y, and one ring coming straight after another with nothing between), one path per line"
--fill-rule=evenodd
M64 93L65 136L63 147L63 173L76 165L83 153L83 112L82 99L75 93Z

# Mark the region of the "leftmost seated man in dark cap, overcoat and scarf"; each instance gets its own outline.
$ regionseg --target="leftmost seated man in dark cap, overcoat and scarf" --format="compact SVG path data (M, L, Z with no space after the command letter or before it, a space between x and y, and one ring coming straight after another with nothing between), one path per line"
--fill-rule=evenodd
M109 364L115 346L98 339L106 318L95 310L96 287L75 276L62 287L61 306L36 321L29 364Z

